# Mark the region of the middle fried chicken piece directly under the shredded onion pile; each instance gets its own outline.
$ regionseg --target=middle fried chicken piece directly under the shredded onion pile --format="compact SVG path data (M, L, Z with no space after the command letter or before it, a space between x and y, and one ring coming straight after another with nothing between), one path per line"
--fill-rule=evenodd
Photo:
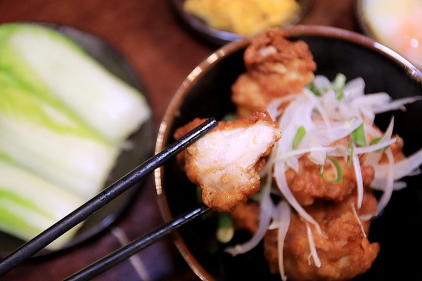
M335 179L335 168L329 164L324 165L324 178L320 175L319 165L312 162L308 155L299 159L299 171L293 169L286 171L287 184L295 199L302 206L309 206L317 199L327 199L339 202L357 188L356 176L353 166L349 166L343 157L337 158L342 171L340 183L332 183ZM361 164L362 180L364 187L369 186L374 178L373 166Z

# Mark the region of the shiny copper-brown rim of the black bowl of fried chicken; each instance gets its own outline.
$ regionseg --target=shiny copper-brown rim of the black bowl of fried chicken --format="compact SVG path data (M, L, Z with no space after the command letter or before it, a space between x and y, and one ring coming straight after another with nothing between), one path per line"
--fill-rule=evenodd
M409 60L405 59L402 55L399 55L395 51L392 51L390 48L383 46L365 34L344 30L339 27L329 27L324 25L293 25L289 27L281 27L281 30L286 30L288 37L328 37L364 46L373 51L377 51L377 53L380 55L383 55L389 60L397 63L397 65L404 69L404 72L407 73L409 77L414 79L417 83L422 84L421 70L418 70L416 66L410 63ZM252 39L258 35L245 37L244 39L233 41L218 48L217 51L213 51L210 55L207 56L207 58L205 58L205 60L199 63L190 74L188 74L188 77L184 79L182 84L174 93L174 96L172 97L172 100L170 101L170 104L165 111L165 115L162 118L155 143L155 154L164 149L164 145L168 145L165 143L165 141L169 137L169 129L172 126L172 120L175 116L178 115L178 108L183 102L186 93L188 93L188 91L193 87L193 84L195 84L195 82L198 81L198 79L200 79L200 77L202 77L203 74L210 69L210 67L215 65L215 63L218 63L219 60L222 60L226 55L230 55L231 53L234 53L242 48L246 48ZM165 221L169 221L174 218L174 216L172 216L170 212L165 190L163 190L162 187L162 169L163 167L161 166L159 169L154 171L155 188L158 195L158 205L162 218L164 218ZM193 272L196 273L196 275L200 277L201 280L213 280L213 277L207 273L207 270L205 270L205 268L203 268L203 266L198 263L191 251L189 251L181 235L178 232L173 233L173 235L174 244L176 244L177 249L179 249L180 254L184 257L191 270L193 270Z

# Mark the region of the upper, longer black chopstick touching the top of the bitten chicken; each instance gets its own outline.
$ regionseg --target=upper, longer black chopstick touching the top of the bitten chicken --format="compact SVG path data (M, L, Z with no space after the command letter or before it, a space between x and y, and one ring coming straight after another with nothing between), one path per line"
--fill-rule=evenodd
M150 159L143 162L133 171L129 172L126 176L120 178L112 185L108 186L105 190L100 192L98 195L93 197L87 203L81 207L72 211L72 213L65 216L57 223L53 224L50 228L47 228L42 233L34 237L32 240L26 242L21 247L8 254L4 259L0 261L0 277L8 273L25 259L37 253L37 251L43 249L48 244L56 240L63 233L70 230L70 228L76 226L78 223L84 221L88 216L93 214L98 209L101 209L111 200L115 199L122 192L128 190L132 185L139 182L147 174L150 174L153 170L162 166L170 157L177 155L181 150L184 150L188 145L196 141L204 133L210 131L217 126L215 118L207 119L207 121L200 124L200 126L187 133L186 136L180 138L178 141L167 146L164 150L154 155Z

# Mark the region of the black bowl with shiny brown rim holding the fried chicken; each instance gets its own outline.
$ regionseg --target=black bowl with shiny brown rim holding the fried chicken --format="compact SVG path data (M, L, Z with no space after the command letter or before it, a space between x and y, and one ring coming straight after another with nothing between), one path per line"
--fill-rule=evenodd
M302 39L317 63L316 74L333 79L338 72L347 79L362 77L366 93L385 91L392 98L422 96L422 73L399 55L361 34L332 27L286 28L291 40ZM238 41L220 48L203 61L181 84L162 120L156 151L174 141L179 126L195 117L221 119L234 111L231 84L245 71L243 51L250 41ZM409 155L421 148L422 102L407 105L407 111L388 112L376 118L386 129L395 116L395 132L404 138ZM198 206L196 187L177 166L167 162L155 174L162 216L170 220ZM408 187L395 191L388 207L373 220L369 240L381 244L373 266L355 280L422 280L422 176L406 179ZM184 259L203 280L280 280L271 275L262 254L262 244L235 257L224 252L225 244L215 239L216 220L207 214L180 228L175 241ZM234 243L247 239L240 233ZM233 243L231 243L233 244Z

